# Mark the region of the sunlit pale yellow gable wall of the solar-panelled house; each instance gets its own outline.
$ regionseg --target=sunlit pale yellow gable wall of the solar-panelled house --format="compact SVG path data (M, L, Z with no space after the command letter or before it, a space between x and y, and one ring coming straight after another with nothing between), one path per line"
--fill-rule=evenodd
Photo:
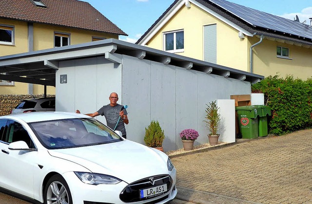
M163 33L184 30L184 52L176 53L203 60L203 29L205 25L216 24L217 64L248 71L248 40L240 39L238 31L223 21L209 15L204 10L191 4L191 8L182 6L178 12L152 37L147 45L163 49Z

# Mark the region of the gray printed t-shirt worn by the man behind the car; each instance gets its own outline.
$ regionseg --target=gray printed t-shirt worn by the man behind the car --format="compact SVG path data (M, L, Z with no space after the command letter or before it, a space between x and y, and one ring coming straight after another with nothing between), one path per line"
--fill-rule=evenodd
M110 104L103 106L98 110L98 114L104 115L106 119L107 126L114 130L116 123L119 118L119 112L122 108L122 105L117 104L116 106L110 106ZM123 109L124 115L127 115L126 109ZM115 130L121 131L122 135L126 135L125 124L123 123L123 119L119 118L118 125Z

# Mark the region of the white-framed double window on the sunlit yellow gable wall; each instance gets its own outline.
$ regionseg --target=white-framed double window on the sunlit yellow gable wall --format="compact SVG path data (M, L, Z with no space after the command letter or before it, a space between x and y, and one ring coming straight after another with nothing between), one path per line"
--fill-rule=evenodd
M171 53L184 52L184 31L164 33L164 50Z

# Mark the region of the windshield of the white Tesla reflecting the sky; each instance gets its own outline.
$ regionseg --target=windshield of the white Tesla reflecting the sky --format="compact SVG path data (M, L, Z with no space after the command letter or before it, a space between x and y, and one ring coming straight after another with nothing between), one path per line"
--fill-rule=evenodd
M48 149L75 148L123 141L113 130L94 118L71 118L29 123Z

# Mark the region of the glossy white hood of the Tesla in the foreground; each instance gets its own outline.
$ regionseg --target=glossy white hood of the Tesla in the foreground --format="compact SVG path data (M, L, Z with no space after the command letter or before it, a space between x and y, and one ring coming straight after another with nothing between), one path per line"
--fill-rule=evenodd
M91 172L115 176L127 183L168 174L168 156L165 153L130 140L80 148L53 149L49 153L77 163Z

